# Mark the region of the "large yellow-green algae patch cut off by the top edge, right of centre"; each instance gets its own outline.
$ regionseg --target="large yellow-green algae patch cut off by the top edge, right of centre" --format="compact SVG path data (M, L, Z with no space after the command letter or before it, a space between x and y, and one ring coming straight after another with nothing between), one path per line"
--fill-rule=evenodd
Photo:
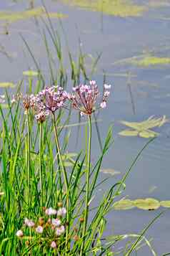
M147 11L146 6L133 4L131 0L63 0L65 4L78 6L82 9L90 11L100 11L104 14L113 16L141 16L144 11Z

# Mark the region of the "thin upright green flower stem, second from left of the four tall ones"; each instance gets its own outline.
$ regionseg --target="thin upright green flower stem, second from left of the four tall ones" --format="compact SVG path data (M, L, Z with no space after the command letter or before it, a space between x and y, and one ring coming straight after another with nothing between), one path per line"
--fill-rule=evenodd
M43 207L43 176L42 176L42 123L39 127L39 179L40 179L40 197L41 197L41 210Z

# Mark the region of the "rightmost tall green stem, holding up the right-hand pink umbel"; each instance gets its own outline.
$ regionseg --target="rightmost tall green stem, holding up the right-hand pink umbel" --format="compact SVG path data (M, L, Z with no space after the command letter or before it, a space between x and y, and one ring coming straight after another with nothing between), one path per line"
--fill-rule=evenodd
M81 244L80 256L84 255L84 242L85 242L86 226L87 226L88 215L89 215L90 163L91 163L91 115L89 115L89 151L88 151L88 166L87 166L87 173L86 173L86 202L85 202L85 212L84 212L84 227L82 232L83 241Z

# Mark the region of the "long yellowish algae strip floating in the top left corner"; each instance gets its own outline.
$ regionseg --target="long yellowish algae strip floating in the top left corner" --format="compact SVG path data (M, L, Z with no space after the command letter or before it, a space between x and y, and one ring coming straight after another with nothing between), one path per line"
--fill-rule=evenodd
M59 13L51 13L49 12L49 17L51 18L64 18L66 15ZM30 9L27 11L0 11L0 20L4 20L6 22L18 22L24 19L31 19L32 17L46 16L46 11L43 7L37 7L34 9Z

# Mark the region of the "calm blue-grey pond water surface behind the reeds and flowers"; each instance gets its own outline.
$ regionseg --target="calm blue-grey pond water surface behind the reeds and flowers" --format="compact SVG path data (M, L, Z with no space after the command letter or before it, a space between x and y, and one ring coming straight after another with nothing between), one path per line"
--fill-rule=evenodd
M147 138L119 136L118 133L125 128L119 121L138 122L146 120L151 115L156 117L166 115L169 118L170 1L134 1L135 6L140 7L139 10L137 9L138 11L134 11L134 13L130 12L136 8L130 5L123 14L120 9L126 8L126 4L129 2L132 4L132 1L120 1L123 5L116 7L112 6L112 1L104 1L103 9L97 8L96 2L95 0L44 0L49 12L67 15L62 19L62 24L71 53L76 56L79 38L85 53L96 57L97 53L102 52L93 79L102 85L105 71L106 81L114 85L109 108L99 116L102 138L106 135L108 126L114 123L114 148L106 156L103 168L114 169L120 171L121 174L111 176L109 179L111 185L125 173L127 166L130 166L136 154L147 141ZM115 2L119 3L119 1ZM42 4L41 1L34 1L34 5L36 8ZM16 11L26 11L28 8L29 1L0 1L0 11L15 13ZM21 80L24 70L28 70L28 68L35 70L34 62L24 46L21 34L33 50L36 60L41 63L46 77L49 77L44 43L41 40L35 19L16 19L11 22L8 17L1 19L1 14L3 13L0 13L0 82L17 82ZM56 29L61 30L59 21L53 19L53 23ZM61 42L64 42L64 37L61 37ZM138 56L141 56L141 59L136 58ZM163 62L166 61L166 64L148 65L144 61L143 63L136 61L144 60L145 57L156 57L157 62L164 57L166 60L163 59ZM66 65L68 65L67 60ZM127 82L129 76L131 78L130 87ZM69 83L71 86L71 82ZM3 93L3 89L0 93ZM159 200L170 199L169 123L157 128L156 131L160 133L160 136L145 149L126 180L124 195L128 195L130 199L145 197L154 197ZM96 134L93 139L96 140ZM71 140L75 143L74 135ZM99 153L99 144L93 143L92 151L95 155ZM106 176L109 174L101 174L101 178ZM108 184L104 185L101 191L104 191L106 187ZM161 210L114 211L108 216L108 233L139 232ZM170 252L169 217L169 211L165 212L146 235L153 237L152 245L158 255ZM138 252L138 255L149 256L151 252L144 247Z

